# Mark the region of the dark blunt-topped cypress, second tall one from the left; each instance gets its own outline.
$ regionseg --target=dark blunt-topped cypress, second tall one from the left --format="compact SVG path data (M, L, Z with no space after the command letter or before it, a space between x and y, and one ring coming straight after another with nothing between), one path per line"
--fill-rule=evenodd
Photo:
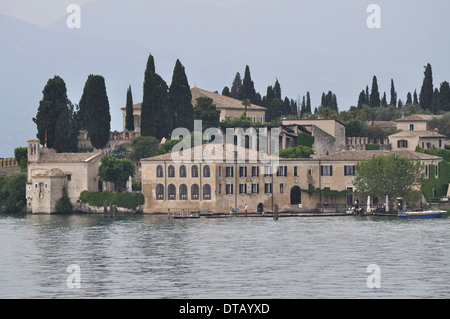
M103 76L88 76L80 99L80 111L92 146L102 149L109 141L111 130L109 101Z

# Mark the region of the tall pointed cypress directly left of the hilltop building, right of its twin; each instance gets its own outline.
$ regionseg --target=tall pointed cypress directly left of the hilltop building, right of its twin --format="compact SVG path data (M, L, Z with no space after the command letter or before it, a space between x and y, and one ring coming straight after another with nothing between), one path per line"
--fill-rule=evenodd
M192 94L186 77L184 66L177 59L173 70L172 83L169 88L169 109L173 117L173 127L194 129L194 107ZM163 120L163 118L161 118Z

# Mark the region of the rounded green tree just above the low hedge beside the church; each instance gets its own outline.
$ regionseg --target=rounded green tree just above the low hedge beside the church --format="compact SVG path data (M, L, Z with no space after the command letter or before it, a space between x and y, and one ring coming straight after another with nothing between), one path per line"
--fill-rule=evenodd
M128 178L135 173L134 164L129 159L117 159L112 156L105 156L101 159L98 170L100 181L114 183L116 190L123 189Z

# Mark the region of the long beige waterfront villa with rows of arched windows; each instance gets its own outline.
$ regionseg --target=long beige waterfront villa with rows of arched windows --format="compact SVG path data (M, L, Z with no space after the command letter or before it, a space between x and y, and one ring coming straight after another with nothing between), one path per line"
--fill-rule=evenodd
M239 160L238 147L225 148L219 156L208 151L194 160L199 158L194 154L205 154L206 147L188 150L187 162L174 161L172 154L141 160L144 213L227 212L230 207L243 211L245 205L249 212L273 211L275 205L280 211L343 212L355 199L353 177L359 160L392 153L421 161L425 167L442 160L411 151L342 151L312 159L270 157L269 162L252 163ZM250 158L252 151L246 149L245 154Z

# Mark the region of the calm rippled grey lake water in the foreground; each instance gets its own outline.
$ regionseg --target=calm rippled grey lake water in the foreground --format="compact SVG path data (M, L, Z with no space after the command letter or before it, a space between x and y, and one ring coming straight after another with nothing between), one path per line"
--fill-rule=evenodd
M0 298L450 297L449 218L0 215L0 245Z

